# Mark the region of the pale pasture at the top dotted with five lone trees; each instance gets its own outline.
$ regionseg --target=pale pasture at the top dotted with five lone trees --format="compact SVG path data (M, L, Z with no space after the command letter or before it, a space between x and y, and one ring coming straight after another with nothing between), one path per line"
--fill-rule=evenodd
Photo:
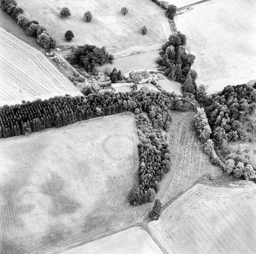
M50 31L60 45L81 45L85 43L105 46L110 53L125 54L160 47L170 35L170 27L164 10L148 0L47 0L31 2L18 0L29 19L40 21ZM121 8L126 6L129 13L124 16ZM71 16L60 18L60 10L70 8ZM92 21L83 21L83 14L92 12ZM141 35L141 27L146 25L147 35ZM67 30L72 30L72 42L64 40Z

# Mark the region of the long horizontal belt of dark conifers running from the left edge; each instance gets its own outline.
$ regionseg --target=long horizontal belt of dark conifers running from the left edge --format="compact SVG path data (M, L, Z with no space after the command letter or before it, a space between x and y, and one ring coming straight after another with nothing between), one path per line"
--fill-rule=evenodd
M160 108L175 108L180 111L186 111L190 107L186 101L167 92L88 94L86 97L65 96L44 101L37 99L12 106L5 105L0 108L0 137L18 136L29 129L34 132L41 128L60 127L92 117L134 111L136 108L148 113L151 110L151 104L160 104ZM151 115L154 116L154 114ZM161 121L160 117L157 117L158 121ZM34 121L37 124L33 124Z

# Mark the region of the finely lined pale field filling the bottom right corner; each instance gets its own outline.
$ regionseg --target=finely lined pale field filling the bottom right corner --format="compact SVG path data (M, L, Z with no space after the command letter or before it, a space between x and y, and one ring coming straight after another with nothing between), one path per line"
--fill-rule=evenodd
M148 224L167 253L254 253L256 185L195 185Z

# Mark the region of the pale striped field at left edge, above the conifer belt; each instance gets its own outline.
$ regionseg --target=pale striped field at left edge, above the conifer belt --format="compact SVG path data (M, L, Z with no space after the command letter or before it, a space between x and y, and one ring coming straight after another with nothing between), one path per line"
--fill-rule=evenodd
M0 105L81 95L41 52L0 27Z

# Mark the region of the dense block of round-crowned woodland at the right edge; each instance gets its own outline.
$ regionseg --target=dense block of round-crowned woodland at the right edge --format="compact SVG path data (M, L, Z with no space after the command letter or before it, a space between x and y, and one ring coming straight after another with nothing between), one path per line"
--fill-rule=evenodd
M228 85L209 98L206 114L212 128L212 140L222 147L228 140L245 140L243 122L256 107L256 93L248 85Z

